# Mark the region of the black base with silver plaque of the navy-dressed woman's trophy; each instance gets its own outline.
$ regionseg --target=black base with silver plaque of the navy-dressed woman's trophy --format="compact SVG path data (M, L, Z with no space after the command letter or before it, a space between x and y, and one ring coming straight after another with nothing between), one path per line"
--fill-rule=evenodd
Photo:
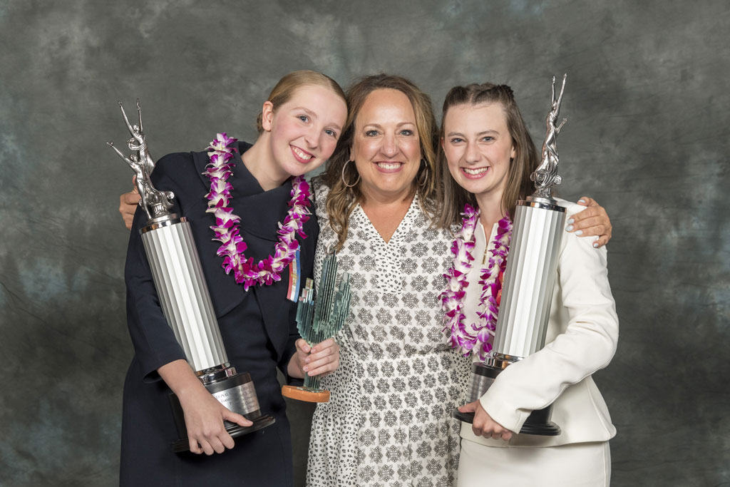
M253 380L248 372L242 374L234 374L221 380L215 380L207 384L203 384L215 399L228 407L234 413L239 413L248 421L252 421L251 426L240 426L230 421L223 421L226 426L226 432L231 437L236 438L244 434L257 432L266 426L271 426L276 419L271 415L262 415L258 409L258 399L253 388ZM177 428L179 440L172 442L172 451L174 453L183 453L190 451L190 441L188 440L188 429L185 427L185 413L177 396L170 394L170 407L172 408L172 416ZM254 409L255 408L255 409Z

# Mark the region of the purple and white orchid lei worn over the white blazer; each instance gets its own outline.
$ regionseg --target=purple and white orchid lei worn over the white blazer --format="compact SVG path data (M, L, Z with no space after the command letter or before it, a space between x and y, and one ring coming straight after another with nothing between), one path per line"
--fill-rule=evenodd
M496 330L497 314L499 312L500 291L502 282L500 275L504 275L507 266L507 253L510 250L512 237L512 221L509 215L497 223L497 234L493 239L493 249L487 266L481 269L479 284L482 291L479 297L477 316L479 323L472 323L471 330L467 331L464 324L464 296L469 283L466 276L472 269L474 260L472 250L475 245L474 231L479 221L479 210L470 204L464 206L464 218L461 231L451 245L453 266L444 275L447 287L441 294L441 306L445 313L445 330L450 330L452 348L460 348L464 355L474 350L480 360L485 360L492 349L494 331Z

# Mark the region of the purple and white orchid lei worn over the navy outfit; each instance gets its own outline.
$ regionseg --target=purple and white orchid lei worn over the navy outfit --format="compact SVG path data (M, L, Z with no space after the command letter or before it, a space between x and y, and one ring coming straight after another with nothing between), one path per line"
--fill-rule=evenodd
M228 183L228 177L233 174L234 168L234 163L229 161L237 152L234 145L237 140L227 137L226 132L217 134L207 147L210 164L203 174L210 179L210 193L205 195L208 200L206 212L215 215L215 226L210 229L215 233L213 240L221 242L216 253L223 257L222 266L226 274L232 270L236 282L243 284L243 288L248 291L252 285L271 285L274 281L281 280L281 273L291 264L299 248L296 236L307 238L302 228L304 222L310 219L307 216L310 215L307 209L310 206L310 185L302 176L292 180L289 211L284 223L279 223L279 242L274 247L274 256L269 256L258 264L253 262L253 258L246 259L244 251L247 245L239 235L237 225L241 218L234 214L233 208L228 207L233 189L231 183Z

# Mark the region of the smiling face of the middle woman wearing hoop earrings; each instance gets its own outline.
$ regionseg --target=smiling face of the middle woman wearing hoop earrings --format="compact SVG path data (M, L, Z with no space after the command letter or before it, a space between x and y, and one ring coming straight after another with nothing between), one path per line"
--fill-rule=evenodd
M365 99L355 120L350 159L365 199L404 199L420 166L420 139L408 97L390 88Z

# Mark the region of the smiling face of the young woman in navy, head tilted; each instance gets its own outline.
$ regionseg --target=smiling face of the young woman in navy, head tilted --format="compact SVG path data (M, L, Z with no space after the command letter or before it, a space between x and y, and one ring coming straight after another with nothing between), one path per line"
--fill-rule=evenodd
M345 118L345 100L325 86L304 85L279 107L266 101L261 126L269 132L273 178L303 175L323 164L334 152Z

